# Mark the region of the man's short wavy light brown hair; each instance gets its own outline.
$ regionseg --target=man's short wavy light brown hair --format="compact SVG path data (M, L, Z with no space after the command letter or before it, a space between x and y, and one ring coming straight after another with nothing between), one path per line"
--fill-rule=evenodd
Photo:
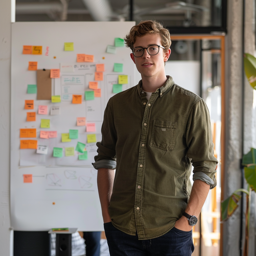
M156 20L142 20L138 25L131 28L130 32L124 37L126 47L133 48L136 36L141 37L147 34L159 34L162 40L162 46L167 51L171 46L169 29L165 28L160 22Z

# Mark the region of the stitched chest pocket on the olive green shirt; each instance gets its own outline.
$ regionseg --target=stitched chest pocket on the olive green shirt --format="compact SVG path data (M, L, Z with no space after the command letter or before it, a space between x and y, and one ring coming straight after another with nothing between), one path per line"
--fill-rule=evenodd
M177 122L154 120L150 146L162 150L173 150Z

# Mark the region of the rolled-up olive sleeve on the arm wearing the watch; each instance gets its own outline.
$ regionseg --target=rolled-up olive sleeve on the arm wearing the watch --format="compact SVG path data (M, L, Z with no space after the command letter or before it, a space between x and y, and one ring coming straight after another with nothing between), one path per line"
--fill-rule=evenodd
M186 125L187 157L194 167L193 180L200 179L216 186L216 165L214 144L212 142L210 114L204 100L197 101L191 106Z

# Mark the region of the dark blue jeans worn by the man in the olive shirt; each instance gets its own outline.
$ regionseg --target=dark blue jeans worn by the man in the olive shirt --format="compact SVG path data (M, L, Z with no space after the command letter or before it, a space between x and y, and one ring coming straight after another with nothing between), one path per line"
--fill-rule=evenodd
M172 228L166 234L147 240L128 235L111 222L104 223L110 256L190 256L194 251L192 230Z

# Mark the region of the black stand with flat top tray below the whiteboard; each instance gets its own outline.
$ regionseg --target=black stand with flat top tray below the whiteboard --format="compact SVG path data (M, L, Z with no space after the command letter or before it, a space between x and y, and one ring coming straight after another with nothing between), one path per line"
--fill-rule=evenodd
M77 230L78 228L69 228L68 231L48 231L49 234L56 234L56 256L72 256L72 234Z

